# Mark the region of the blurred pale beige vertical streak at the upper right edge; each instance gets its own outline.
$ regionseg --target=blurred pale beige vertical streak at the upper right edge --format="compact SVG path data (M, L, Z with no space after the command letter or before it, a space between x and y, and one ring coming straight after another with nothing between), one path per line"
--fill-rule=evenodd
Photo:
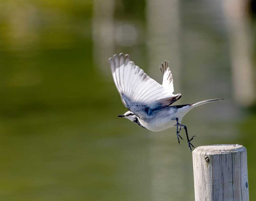
M237 102L249 106L255 102L255 68L252 64L253 36L249 22L248 0L223 2L228 24L232 79Z

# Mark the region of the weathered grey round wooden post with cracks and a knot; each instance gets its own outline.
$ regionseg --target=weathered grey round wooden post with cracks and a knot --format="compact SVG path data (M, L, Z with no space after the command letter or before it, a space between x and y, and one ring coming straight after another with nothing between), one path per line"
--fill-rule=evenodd
M247 201L246 148L220 144L193 151L195 201Z

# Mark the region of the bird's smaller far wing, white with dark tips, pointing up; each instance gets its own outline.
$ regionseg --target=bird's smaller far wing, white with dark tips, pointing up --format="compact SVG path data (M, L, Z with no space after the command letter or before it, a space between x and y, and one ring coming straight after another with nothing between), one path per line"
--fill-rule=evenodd
M172 79L172 73L170 71L170 68L168 67L169 62L166 62L165 64L161 64L160 70L163 74L163 83L162 86L168 91L168 93L173 94L174 88L173 88L173 79Z

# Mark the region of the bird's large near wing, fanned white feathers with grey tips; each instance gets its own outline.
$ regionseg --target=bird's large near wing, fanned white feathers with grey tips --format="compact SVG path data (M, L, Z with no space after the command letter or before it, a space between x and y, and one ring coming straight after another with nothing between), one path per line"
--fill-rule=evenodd
M109 63L123 104L140 118L181 98L181 94L169 93L161 84L150 78L130 61L128 54L114 55L109 58Z

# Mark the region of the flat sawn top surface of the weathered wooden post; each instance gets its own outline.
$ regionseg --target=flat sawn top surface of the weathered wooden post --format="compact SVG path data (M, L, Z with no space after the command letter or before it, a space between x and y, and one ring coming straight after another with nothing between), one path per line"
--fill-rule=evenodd
M200 146L194 149L193 153L209 153L209 154L227 154L234 152L243 152L246 148L239 144L214 144Z

